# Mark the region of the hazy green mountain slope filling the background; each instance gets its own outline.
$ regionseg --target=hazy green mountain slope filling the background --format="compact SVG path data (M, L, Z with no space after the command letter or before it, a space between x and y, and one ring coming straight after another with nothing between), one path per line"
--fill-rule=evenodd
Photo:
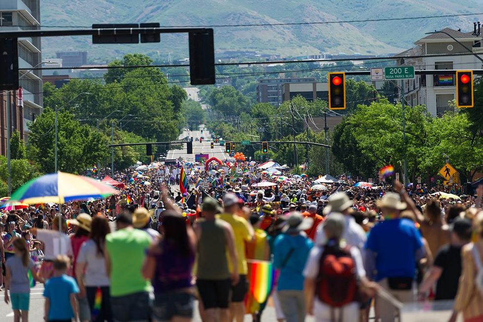
M351 21L483 11L479 0L58 0L41 1L41 25L90 28L93 23L159 22L162 26L278 24ZM282 57L322 52L383 55L413 45L425 32L473 29L477 16L291 26L214 27L215 50L247 50ZM48 28L53 29L53 28ZM187 36L162 35L161 43L93 45L90 36L45 37L45 58L56 51L88 50L105 62L129 52L166 59L188 56Z

